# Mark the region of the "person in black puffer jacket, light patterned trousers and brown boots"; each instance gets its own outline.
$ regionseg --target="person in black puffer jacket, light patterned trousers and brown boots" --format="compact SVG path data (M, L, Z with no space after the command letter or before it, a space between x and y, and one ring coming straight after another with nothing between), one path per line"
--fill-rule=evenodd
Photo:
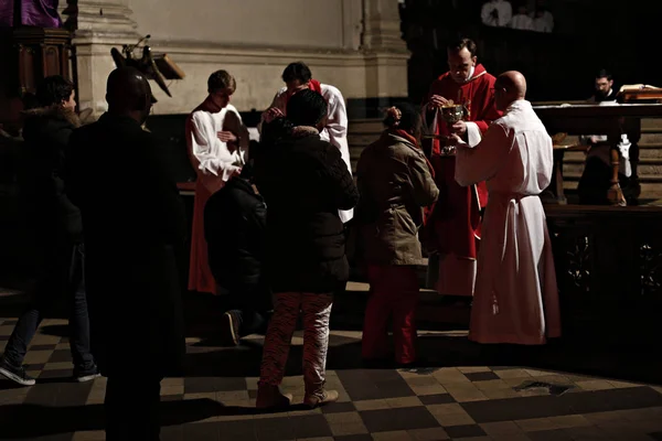
M287 105L285 136L277 135L256 158L255 182L267 204L267 272L274 315L265 340L257 407L290 404L278 386L299 311L303 311L305 404L338 399L324 389L332 292L349 278L339 209L353 208L359 192L340 151L320 140L327 103L303 89ZM282 121L276 122L280 123ZM274 123L274 122L271 122Z

